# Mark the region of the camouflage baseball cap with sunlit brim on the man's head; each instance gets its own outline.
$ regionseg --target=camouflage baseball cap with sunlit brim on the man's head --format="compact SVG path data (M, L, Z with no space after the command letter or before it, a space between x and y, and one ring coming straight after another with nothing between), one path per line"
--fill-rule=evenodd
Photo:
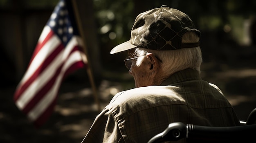
M188 31L195 31L200 37L200 31L195 29L188 15L163 5L160 8L140 13L132 27L130 40L117 45L110 54L136 47L176 50L199 46L199 42L182 44L182 36Z

